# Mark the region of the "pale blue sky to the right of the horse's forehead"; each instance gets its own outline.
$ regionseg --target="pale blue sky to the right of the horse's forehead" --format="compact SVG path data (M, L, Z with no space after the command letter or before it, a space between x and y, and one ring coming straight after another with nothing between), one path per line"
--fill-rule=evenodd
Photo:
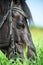
M26 0L30 8L34 25L43 28L43 0Z

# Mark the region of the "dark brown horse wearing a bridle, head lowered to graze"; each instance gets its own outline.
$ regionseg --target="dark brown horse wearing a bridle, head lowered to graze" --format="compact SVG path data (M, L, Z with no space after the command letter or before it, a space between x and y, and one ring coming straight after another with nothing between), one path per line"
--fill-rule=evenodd
M32 15L25 0L0 0L0 49L10 59L34 59L36 49L27 23Z

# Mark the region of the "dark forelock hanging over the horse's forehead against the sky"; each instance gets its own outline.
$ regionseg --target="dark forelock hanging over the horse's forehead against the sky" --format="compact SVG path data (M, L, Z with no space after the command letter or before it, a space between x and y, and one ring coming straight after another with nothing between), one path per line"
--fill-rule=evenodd
M25 0L21 0L20 2L21 2L21 6L22 6L24 12L27 14L28 19L32 20L32 14L30 12L30 9L29 9L28 5L26 4L26 1Z

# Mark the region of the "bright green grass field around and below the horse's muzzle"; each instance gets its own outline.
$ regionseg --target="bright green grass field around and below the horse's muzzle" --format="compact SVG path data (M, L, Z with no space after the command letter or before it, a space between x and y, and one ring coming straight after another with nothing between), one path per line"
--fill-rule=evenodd
M24 63L22 64L19 61L19 58L17 58L16 61L12 59L8 60L8 58L2 53L2 51L0 51L0 65L43 65L43 29L31 27L30 31L37 51L36 60L29 61L25 58Z

